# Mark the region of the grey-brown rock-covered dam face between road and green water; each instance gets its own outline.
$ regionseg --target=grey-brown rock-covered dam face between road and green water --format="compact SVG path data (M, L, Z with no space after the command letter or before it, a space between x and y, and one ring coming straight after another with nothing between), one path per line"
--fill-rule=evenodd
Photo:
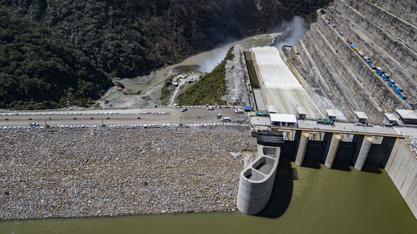
M239 130L0 133L0 219L236 210Z

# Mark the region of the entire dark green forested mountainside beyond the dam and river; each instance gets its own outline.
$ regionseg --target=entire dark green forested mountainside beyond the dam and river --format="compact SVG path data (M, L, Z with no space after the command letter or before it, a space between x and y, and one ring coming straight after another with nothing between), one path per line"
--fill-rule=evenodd
M108 77L135 77L272 31L328 2L2 0L0 108L91 102L112 84Z

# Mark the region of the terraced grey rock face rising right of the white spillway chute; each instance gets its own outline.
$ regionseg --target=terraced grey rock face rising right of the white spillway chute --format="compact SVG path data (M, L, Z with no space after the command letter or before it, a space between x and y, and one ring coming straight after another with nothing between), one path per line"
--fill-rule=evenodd
M388 4L388 1L383 1ZM400 6L405 2L397 1ZM303 40L291 50L294 66L313 87L321 88L345 116L365 111L371 121L384 119L384 111L415 109L417 104L417 27L415 15L388 12L369 1L335 0L317 17ZM411 8L416 1L409 3ZM391 6L391 5L390 5ZM395 14L404 15L404 19ZM335 23L374 65L383 68L404 90L404 101L370 69L326 18Z

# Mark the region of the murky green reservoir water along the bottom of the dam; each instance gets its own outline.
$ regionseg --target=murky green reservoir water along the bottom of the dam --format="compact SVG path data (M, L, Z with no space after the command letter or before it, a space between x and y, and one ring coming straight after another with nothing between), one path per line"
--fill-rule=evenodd
M280 162L259 216L241 212L0 221L0 233L417 233L384 169Z

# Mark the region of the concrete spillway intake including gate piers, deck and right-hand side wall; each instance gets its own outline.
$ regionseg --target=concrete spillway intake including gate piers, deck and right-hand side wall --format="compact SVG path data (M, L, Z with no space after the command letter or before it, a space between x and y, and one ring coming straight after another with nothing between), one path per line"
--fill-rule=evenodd
M282 132L285 141L274 139L277 132ZM258 152L263 146L280 147L280 157L289 157L298 166L303 166L307 159L324 163L329 169L333 169L334 162L354 166L359 171L367 164L379 164L417 218L417 155L411 150L411 141L400 134L339 132L342 131L308 131L297 127L264 130L257 132L261 135L257 136ZM271 137L266 137L268 134Z

